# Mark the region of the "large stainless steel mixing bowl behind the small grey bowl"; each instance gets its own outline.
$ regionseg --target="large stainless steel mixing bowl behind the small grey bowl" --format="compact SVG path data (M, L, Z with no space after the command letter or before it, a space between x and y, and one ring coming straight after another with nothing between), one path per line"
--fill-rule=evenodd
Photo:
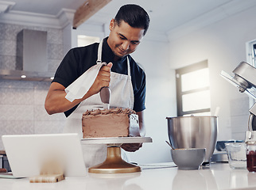
M210 161L217 139L216 116L179 116L166 119L169 141L173 148L205 148L204 163Z

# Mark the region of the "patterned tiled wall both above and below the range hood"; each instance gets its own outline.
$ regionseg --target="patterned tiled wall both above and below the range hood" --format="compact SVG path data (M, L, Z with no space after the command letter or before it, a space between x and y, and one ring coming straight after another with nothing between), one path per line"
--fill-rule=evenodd
M63 32L56 28L0 24L0 69L16 67L17 33L23 28L47 31L48 71L55 72L63 59ZM45 97L50 82L0 79L0 137L2 135L60 133L64 113L49 116ZM0 150L3 150L0 139Z

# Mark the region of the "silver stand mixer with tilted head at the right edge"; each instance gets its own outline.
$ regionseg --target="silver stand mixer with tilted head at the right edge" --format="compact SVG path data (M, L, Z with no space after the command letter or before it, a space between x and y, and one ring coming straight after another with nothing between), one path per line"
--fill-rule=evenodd
M254 98L256 88L256 68L246 62L241 62L233 70L235 76L232 78L224 71L221 72L221 76L231 82L233 85L239 88L239 92L246 93L249 97ZM250 116L248 120L248 130L246 131L246 142L256 141L256 103L249 109Z

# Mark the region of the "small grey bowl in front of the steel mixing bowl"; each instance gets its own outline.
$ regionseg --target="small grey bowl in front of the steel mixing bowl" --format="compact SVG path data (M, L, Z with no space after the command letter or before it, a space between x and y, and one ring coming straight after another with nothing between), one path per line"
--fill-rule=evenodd
M178 169L199 169L205 158L205 148L172 149L173 162Z

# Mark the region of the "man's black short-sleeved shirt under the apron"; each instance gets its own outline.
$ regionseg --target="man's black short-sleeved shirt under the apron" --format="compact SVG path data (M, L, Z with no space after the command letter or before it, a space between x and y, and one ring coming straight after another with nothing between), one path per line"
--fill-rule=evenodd
M85 47L75 47L68 51L60 66L56 70L56 74L52 82L58 82L64 87L68 87L72 82L76 81L86 70L96 64L98 58L99 43L91 44ZM134 89L134 111L141 112L145 109L145 72L135 63L130 55L126 55L118 61L114 61L114 53L107 44L107 38L103 40L102 62L113 63L112 72L118 74L127 74L127 56L130 60L130 75ZM69 116L75 109L71 108L64 112L65 116Z

